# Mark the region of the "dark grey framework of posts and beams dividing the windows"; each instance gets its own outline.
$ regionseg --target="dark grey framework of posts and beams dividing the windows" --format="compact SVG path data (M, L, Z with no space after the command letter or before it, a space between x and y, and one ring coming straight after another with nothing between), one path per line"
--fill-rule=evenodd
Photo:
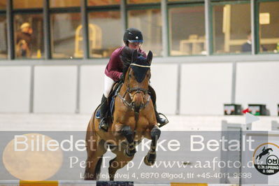
M83 26L85 26L85 33L83 33L83 36L85 38L85 42L84 42L84 49L86 49L84 51L84 55L83 55L83 59L92 59L92 57L90 57L89 55L89 41L87 39L88 37L88 18L87 15L91 12L94 11L112 11L112 10L119 10L120 14L121 14L121 22L122 22L122 27L123 29L127 29L128 26L128 11L129 10L147 10L150 8L158 8L162 10L163 6L166 6L166 20L164 20L162 28L166 27L166 33L162 33L163 34L163 38L166 37L166 43L168 45L164 45L163 44L163 52L164 50L166 50L166 55L164 57L193 57L196 55L179 55L179 56L171 56L170 52L171 52L171 36L170 36L170 27L169 27L169 9L170 8L175 8L175 7L187 7L187 6L200 6L203 5L205 6L205 15L208 16L208 20L205 19L205 24L208 24L209 27L209 31L207 30L207 26L206 27L206 36L208 38L206 38L206 42L208 42L208 47L207 47L207 52L208 54L206 56L219 56L219 55L247 55L247 56L255 56L255 55L278 55L278 53L273 53L273 52L259 52L259 47L260 47L260 43L259 43L259 3L262 2L273 2L273 1L278 1L278 0L241 0L241 1L234 1L234 0L185 0L185 1L168 1L168 0L164 0L164 1L160 1L160 2L156 2L156 3L138 3L138 4L133 4L133 3L127 3L127 0L121 0L120 4L114 4L114 5L105 5L105 6L88 6L87 4L87 0L80 0L80 6L74 6L74 7L63 7L63 8L54 8L54 7L50 7L50 1L49 0L43 0L43 8L17 8L14 9L13 8L13 1L7 1L6 4L6 9L5 10L0 10L0 14L6 14L6 22L7 22L7 52L8 52L8 60L14 60L15 59L15 51L14 48L14 41L15 38L13 36L14 34L14 20L13 17L15 14L23 14L23 13L42 13L43 14L43 28L45 30L45 40L44 40L44 53L45 55L41 58L41 59L52 59L51 57L51 51L52 48L50 46L50 42L51 42L51 38L50 38L50 33L51 33L51 29L50 29L50 25L49 26L45 26L48 23L48 21L50 20L50 16L52 13L80 13L81 14L81 22L83 24ZM163 4L162 4L163 3ZM222 4L236 4L236 3L250 3L251 6L251 31L252 31L252 41L253 41L253 45L255 45L255 48L253 48L252 46L252 51L255 50L254 52L252 52L251 54L243 54L243 53L224 53L224 54L216 54L213 51L213 6L215 5L222 5ZM206 8L206 4L208 5L208 7ZM162 15L164 14L162 12ZM254 19L254 22L252 23L252 19ZM47 23L45 23L47 22ZM166 25L164 25L166 23ZM208 31L208 33L207 33ZM87 33L87 34L86 34ZM48 36L49 37L46 37ZM166 36L165 36L166 35ZM86 36L86 37L85 37ZM46 42L48 41L48 42ZM164 39L163 41L164 42ZM85 47L86 46L86 47ZM49 49L48 49L49 48ZM48 51L50 50L50 51ZM50 52L50 55L47 54L47 52ZM198 55L201 57L206 57L204 55ZM78 59L78 58L77 58ZM93 58L94 59L94 58ZM1 60L1 59L0 59ZM27 60L27 59L21 59L21 60ZM28 59L29 60L29 59Z

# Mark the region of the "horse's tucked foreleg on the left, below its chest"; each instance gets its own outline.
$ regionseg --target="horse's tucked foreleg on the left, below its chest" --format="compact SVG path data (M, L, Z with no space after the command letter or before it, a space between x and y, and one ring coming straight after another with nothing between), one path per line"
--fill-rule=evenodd
M133 157L136 153L136 148L134 144L134 138L133 138L133 131L131 131L131 127L124 126L121 129L121 134L127 139L128 145L125 150L125 155L128 157Z

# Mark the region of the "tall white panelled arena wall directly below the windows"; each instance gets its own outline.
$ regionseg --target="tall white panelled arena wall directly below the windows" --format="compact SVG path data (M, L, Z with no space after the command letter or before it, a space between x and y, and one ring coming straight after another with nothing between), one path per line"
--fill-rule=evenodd
M223 104L234 99L243 108L264 103L271 115L277 115L279 61L236 62L234 71L234 62L180 63L178 58L165 63L161 59L153 59L151 78L159 112L223 115ZM107 60L6 62L0 65L0 113L92 113L101 100Z

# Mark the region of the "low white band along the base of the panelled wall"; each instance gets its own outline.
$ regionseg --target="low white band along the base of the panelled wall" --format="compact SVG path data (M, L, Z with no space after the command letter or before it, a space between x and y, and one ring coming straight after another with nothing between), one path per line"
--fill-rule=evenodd
M91 114L0 113L1 131L86 131ZM245 124L240 115L168 115L169 124L162 131L222 131L222 122ZM274 129L276 123L277 128ZM279 131L279 117L259 116L252 131Z

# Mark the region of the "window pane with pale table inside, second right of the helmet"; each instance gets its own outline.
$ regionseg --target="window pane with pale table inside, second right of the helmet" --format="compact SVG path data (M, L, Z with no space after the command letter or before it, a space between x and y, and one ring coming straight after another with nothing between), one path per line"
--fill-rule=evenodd
M170 55L205 55L204 6L169 8Z

